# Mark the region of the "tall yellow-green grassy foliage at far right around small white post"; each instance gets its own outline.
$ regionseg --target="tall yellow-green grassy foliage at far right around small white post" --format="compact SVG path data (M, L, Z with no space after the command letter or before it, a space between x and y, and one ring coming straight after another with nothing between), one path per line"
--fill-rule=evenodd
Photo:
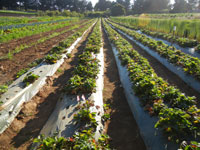
M111 19L134 29L144 29L151 32L158 32L158 36L165 39L173 39L181 46L195 45L197 41L200 41L200 21L195 19L157 19L149 18L148 15L141 15L139 17L112 17ZM174 35L177 39L180 38L178 40L173 38L174 26L176 26Z

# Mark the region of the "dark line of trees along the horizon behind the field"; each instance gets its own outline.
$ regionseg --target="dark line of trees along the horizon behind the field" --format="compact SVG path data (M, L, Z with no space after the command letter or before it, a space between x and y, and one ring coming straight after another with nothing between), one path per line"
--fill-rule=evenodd
M200 0L99 0L93 7L88 0L0 0L0 9L64 10L84 13L105 11L111 15L130 15L141 13L184 13L200 11Z

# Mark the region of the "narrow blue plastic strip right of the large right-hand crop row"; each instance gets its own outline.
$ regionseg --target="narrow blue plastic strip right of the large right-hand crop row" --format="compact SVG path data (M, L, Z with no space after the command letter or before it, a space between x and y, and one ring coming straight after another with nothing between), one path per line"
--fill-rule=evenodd
M112 28L115 28L111 25ZM115 28L118 32L135 42L138 46L140 46L142 49L144 49L148 54L156 58L160 63L162 63L167 69L178 75L184 82L186 82L190 87L195 89L196 91L200 91L200 82L197 81L193 76L186 74L181 67L175 66L168 62L167 59L161 57L157 52L150 49L147 46L144 46L140 42L136 41L133 37L127 35L126 33L122 32L121 30Z

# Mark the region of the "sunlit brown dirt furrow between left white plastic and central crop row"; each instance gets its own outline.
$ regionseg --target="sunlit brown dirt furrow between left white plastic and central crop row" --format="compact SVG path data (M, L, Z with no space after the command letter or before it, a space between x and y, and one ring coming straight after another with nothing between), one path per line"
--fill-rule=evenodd
M54 110L57 100L62 93L62 88L71 77L73 67L78 63L78 55L85 47L89 31L72 51L72 58L66 59L59 72L47 80L47 84L32 98L24 103L19 115L10 127L0 135L0 149L26 150L31 148L49 116Z

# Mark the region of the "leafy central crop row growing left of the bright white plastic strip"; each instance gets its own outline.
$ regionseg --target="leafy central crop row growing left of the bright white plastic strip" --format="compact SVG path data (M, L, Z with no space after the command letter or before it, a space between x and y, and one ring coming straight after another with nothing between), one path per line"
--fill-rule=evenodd
M95 25L92 34L87 39L87 44L84 49L84 52L79 55L79 64L75 67L73 72L73 77L68 81L65 90L69 94L78 94L81 93L93 93L94 92L94 84L96 82L97 74L99 71L98 61L94 54L98 54L101 47L101 30L100 30L100 21ZM81 79L78 82L74 79ZM93 89L91 89L90 82L91 80L94 82L92 84ZM79 91L80 90L80 91ZM40 144L38 149L109 149L107 135L101 134L100 137L96 140L95 131L98 126L98 122L96 120L96 112L91 111L91 107L94 106L94 102L91 100L86 100L84 103L79 103L76 107L78 111L77 114L74 115L73 120L76 123L80 123L81 129L75 132L75 134L70 138L56 136L44 138L44 136L40 136L34 140ZM57 140L59 139L59 140ZM50 142L51 141L51 142Z

